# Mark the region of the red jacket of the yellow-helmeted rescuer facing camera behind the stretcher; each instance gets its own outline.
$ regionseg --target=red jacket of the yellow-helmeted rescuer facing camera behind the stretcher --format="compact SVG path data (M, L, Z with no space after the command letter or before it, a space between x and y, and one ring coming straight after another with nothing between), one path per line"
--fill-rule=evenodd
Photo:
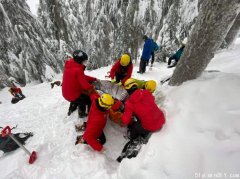
M128 79L128 78L131 78L132 76L132 70L133 70L133 64L130 63L128 66L126 67L123 67L120 65L120 59L117 60L114 65L112 66L112 69L110 71L110 78L111 79L114 79L116 73L122 73L124 75L126 75L125 78L123 78L121 80L122 84L125 83L125 81Z

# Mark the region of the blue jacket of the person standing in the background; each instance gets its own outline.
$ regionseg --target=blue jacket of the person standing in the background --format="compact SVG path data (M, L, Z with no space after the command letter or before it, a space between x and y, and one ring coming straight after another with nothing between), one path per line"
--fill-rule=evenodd
M156 48L156 46L155 46L155 42L153 41L153 39L148 38L147 40L145 40L141 58L144 61L149 61L151 54L152 54L152 52L154 52L155 48Z

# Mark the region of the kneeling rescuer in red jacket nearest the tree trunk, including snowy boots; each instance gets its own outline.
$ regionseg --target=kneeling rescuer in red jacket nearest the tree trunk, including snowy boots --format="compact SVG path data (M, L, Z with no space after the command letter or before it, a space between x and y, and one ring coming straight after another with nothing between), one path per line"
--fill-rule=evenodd
M165 123L164 114L155 103L151 92L138 89L136 82L126 90L130 97L126 100L121 122L128 125L130 141L124 146L118 162L125 157L136 157L141 145L148 142L151 133L160 130ZM136 116L135 121L132 120L133 115Z

